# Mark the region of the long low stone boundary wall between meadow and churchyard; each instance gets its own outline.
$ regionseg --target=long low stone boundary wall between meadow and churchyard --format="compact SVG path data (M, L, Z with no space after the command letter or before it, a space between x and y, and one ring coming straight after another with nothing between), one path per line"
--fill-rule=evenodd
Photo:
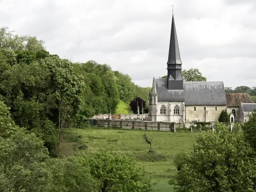
M87 121L92 125L97 125L101 127L108 128L125 128L125 129L143 129L143 130L155 130L155 131L174 131L184 130L184 131L199 131L211 129L215 122L184 122L184 123L174 123L174 122L153 122L153 121L136 121L136 120L109 120L109 119L90 119ZM235 123L227 123L230 130L233 129Z

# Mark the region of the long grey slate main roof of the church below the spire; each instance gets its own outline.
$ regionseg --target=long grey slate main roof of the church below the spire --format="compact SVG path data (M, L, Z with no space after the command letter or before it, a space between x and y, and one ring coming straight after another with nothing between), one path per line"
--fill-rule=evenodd
M183 90L168 90L167 79L155 79L158 101L185 101L185 105L227 105L223 81L183 82Z

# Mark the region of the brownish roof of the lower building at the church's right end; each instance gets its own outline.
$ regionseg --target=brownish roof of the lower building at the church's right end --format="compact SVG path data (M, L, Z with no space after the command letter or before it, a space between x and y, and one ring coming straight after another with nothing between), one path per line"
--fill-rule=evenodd
M240 103L254 103L247 93L226 93L227 106L239 107Z

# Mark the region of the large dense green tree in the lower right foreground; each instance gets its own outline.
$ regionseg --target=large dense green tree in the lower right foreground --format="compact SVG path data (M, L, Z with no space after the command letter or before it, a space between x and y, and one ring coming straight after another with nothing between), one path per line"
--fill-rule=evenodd
M239 128L229 131L226 125L215 124L215 131L196 136L191 154L180 156L180 165L173 180L176 192L247 192L254 191L256 166Z

